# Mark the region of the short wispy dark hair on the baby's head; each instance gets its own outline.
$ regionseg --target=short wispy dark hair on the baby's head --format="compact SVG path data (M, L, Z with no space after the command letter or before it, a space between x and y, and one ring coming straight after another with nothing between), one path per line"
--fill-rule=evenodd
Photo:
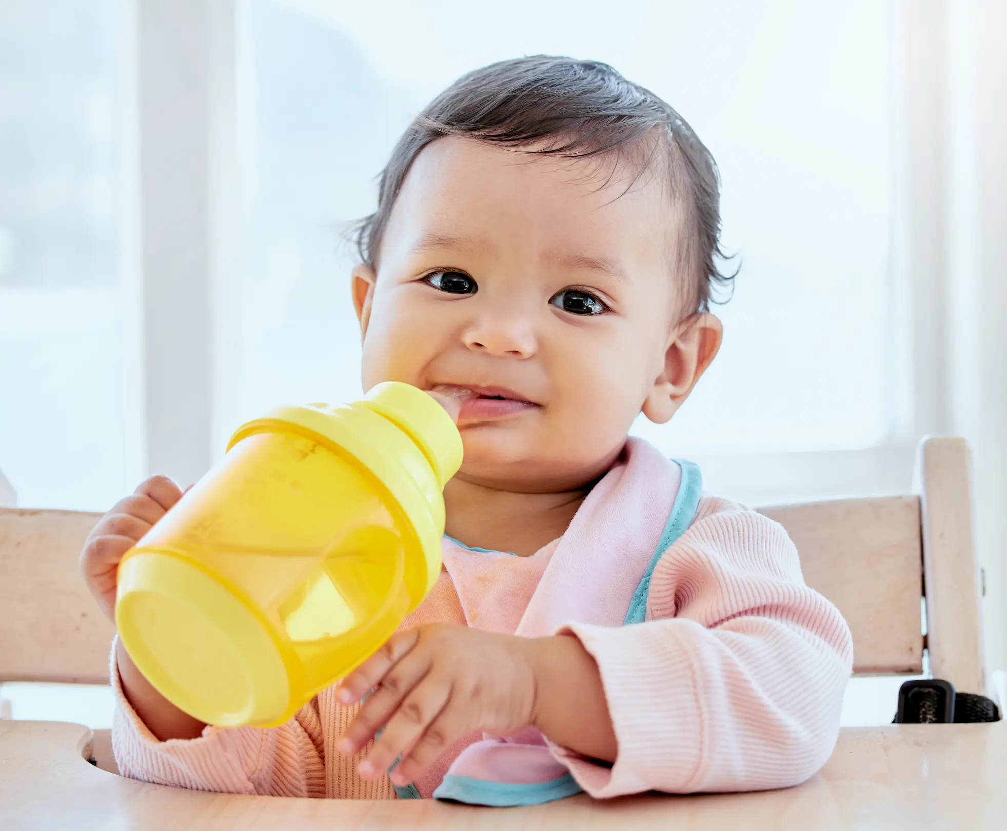
M724 259L717 165L692 128L654 93L607 63L552 55L501 60L468 72L416 117L382 171L378 209L356 227L364 263L377 267L382 236L410 166L443 136L569 159L614 155L619 164L637 158L637 177L660 162L680 208L677 268L690 278L684 311L706 311L715 302L715 289L733 280L717 267ZM654 140L648 142L649 137Z

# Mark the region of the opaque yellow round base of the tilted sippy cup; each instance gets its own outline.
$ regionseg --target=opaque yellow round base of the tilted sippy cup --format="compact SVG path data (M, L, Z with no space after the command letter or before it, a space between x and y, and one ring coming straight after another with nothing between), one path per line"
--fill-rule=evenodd
M208 573L143 551L119 567L119 636L147 679L207 724L276 723L290 685L265 622Z

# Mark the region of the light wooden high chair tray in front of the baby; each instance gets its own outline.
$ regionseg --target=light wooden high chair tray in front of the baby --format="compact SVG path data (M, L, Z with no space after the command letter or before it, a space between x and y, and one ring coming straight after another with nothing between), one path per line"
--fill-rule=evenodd
M756 794L575 797L534 808L206 794L146 785L83 759L89 731L0 722L0 828L236 829L1002 829L1007 722L845 729L820 774Z

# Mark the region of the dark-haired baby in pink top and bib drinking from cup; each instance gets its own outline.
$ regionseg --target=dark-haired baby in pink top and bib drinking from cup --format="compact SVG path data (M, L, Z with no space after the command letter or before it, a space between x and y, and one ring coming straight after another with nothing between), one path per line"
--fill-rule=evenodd
M196 721L117 643L122 773L490 805L812 776L839 729L845 622L779 525L627 438L639 412L668 422L717 354L719 226L709 152L603 63L503 61L435 99L359 226L352 299L365 388L475 393L440 578L279 727ZM110 617L120 558L180 496L150 479L89 539Z

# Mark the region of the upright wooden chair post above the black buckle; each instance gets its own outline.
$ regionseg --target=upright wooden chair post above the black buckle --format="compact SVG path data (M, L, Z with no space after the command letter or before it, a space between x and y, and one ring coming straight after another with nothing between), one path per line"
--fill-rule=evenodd
M919 446L930 672L963 692L986 692L972 543L972 460L964 439Z

